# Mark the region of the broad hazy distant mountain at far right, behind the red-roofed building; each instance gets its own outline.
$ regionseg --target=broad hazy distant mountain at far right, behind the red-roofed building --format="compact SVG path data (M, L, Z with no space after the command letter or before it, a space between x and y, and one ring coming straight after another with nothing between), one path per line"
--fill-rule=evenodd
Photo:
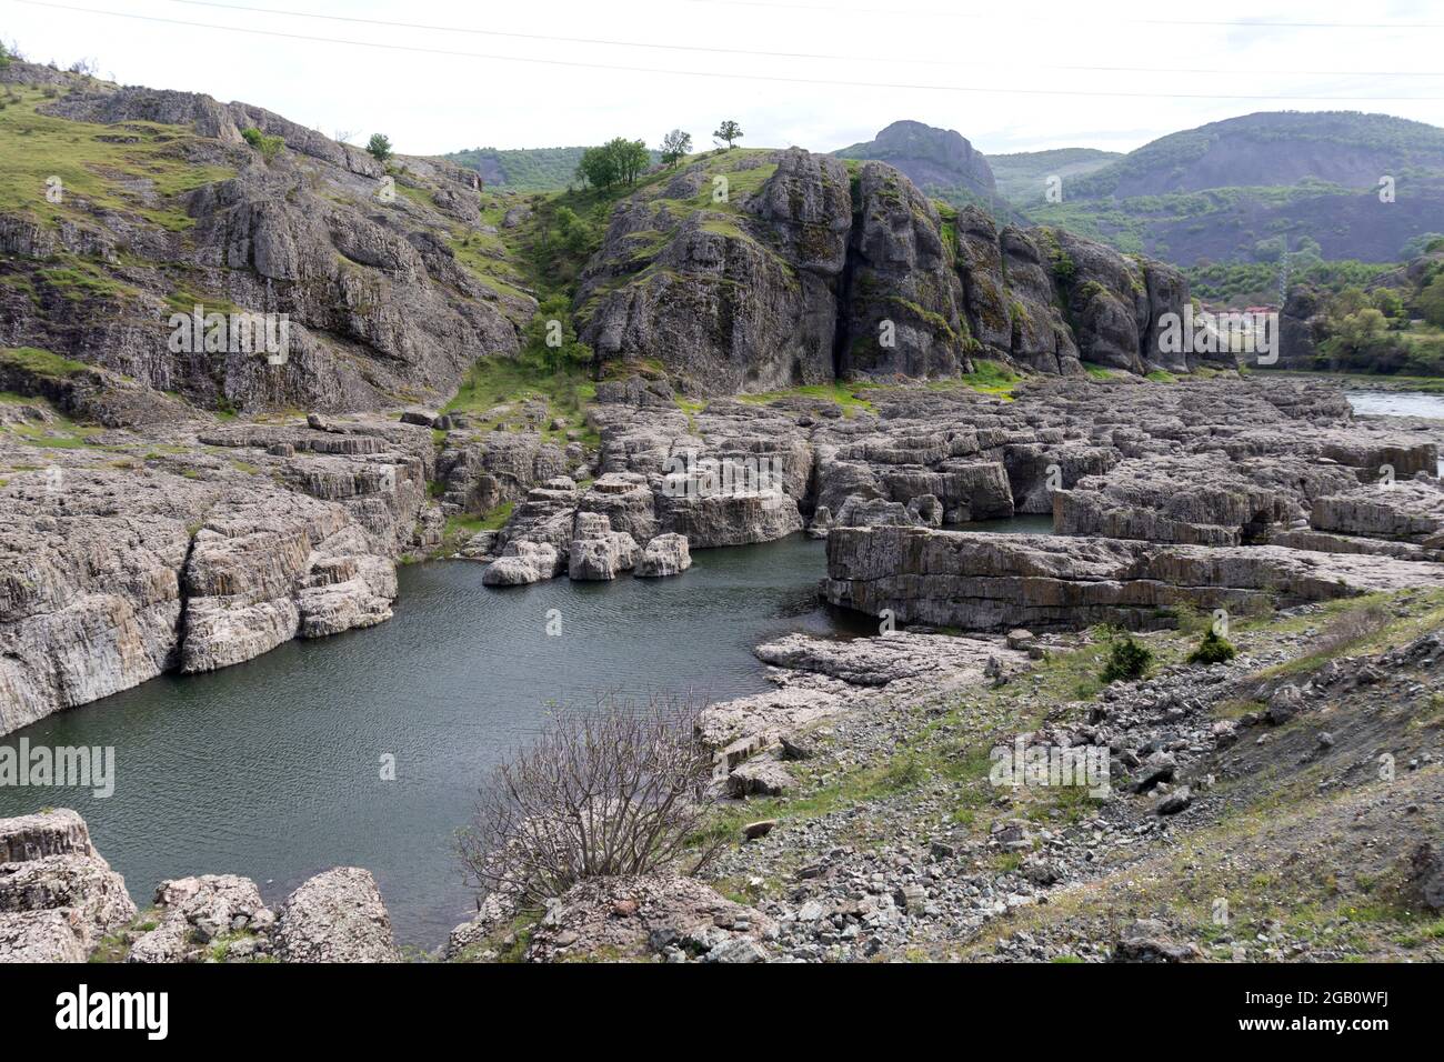
M1411 237L1444 231L1444 129L1354 111L1248 114L1064 176L1060 204L1019 207L1181 266L1281 250L1395 262Z

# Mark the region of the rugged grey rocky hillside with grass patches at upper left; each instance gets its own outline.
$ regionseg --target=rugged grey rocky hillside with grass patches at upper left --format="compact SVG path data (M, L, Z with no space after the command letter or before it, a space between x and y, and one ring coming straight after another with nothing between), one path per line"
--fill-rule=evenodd
M25 85L33 69L10 64L0 82ZM251 410L435 399L478 355L517 353L536 303L504 282L503 264L494 275L466 264L472 247L495 241L472 173L425 159L388 169L250 104L61 79L58 98L26 90L13 105L92 144L94 169L114 155L108 144L139 146L55 204L38 188L32 207L0 212L13 280L0 285L0 347ZM243 130L274 140L261 150ZM286 315L286 355L175 350L172 316L198 305ZM152 419L143 413L131 422Z

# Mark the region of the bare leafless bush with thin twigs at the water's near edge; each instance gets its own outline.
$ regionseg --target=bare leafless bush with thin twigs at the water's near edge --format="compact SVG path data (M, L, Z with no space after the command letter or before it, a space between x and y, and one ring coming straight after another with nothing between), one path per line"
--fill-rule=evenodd
M712 756L695 709L653 698L566 711L481 787L458 854L484 894L521 903L588 877L671 868L708 816ZM700 870L716 848L695 857Z

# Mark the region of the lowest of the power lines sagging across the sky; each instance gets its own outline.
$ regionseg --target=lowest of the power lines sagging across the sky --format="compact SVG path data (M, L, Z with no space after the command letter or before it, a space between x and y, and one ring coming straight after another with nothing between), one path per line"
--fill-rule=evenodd
M978 85L923 85L902 81L852 81L840 78L797 78L778 74L725 74L721 71L667 69L658 66L632 66L622 64L583 62L580 59L542 59L536 56L495 55L488 52L464 52L451 48L423 48L420 45L391 45L377 40L348 40L342 38L326 38L309 33L287 33L282 30L250 29L243 26L217 26L209 22L189 22L186 19L166 19L157 14L130 14L127 12L108 12L97 7L79 7L74 4L45 3L42 0L12 0L12 3L46 10L78 12L81 14L104 14L113 19L131 19L139 22L155 22L170 26L188 26L192 29L215 29L225 33L248 33L253 36L282 38L287 40L306 40L310 43L349 45L354 48L377 48L387 52L413 52L417 55L445 55L462 59L490 59L492 62L520 62L542 66L570 66L578 69L599 69L621 74L661 74L667 77L686 78L715 78L723 81L770 81L787 85L826 85L840 88L892 88L918 92L963 92L980 95L1064 95L1064 97L1102 97L1116 100L1240 100L1252 103L1441 103L1441 95L1269 95L1269 94L1230 94L1230 92L1115 92L1096 90L1061 90L1061 88L1008 88L1008 87L978 87Z

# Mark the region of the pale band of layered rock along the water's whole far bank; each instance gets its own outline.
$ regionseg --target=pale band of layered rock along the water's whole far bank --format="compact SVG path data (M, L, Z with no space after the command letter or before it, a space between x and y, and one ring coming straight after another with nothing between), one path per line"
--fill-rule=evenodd
M0 731L384 621L397 558L505 506L497 530L451 548L490 564L490 584L674 575L693 549L806 527L835 535L835 603L970 629L1158 626L1180 604L1246 610L1438 571L1437 429L1354 422L1323 384L858 394L846 410L793 396L689 412L658 381L608 383L588 413L596 449L417 410L142 431L7 405ZM1051 513L1067 538L939 530L1015 513Z

